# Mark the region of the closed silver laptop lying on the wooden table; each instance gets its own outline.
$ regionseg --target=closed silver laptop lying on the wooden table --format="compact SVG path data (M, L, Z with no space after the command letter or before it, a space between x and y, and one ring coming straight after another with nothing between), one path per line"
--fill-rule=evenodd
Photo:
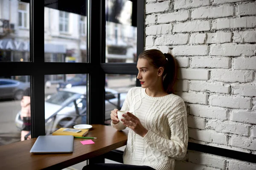
M30 153L72 153L73 142L72 135L38 136Z

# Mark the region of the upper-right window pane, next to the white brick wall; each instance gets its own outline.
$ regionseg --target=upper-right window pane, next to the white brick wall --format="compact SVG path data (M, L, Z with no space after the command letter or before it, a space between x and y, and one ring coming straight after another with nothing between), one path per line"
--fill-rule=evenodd
M131 0L105 0L106 61L136 62L137 26L132 21L134 3Z

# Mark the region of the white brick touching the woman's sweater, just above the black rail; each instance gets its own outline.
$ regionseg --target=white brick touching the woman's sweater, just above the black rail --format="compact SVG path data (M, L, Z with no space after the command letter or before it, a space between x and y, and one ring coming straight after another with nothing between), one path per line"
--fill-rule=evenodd
M189 129L189 137L198 141L227 145L227 135L217 133L214 130Z

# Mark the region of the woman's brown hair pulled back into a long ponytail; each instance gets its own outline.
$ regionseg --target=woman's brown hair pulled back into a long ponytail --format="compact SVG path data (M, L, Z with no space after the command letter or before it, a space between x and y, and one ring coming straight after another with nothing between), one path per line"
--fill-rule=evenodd
M177 63L170 53L162 53L157 49L143 51L140 59L147 59L154 68L163 67L163 88L168 94L173 93L173 86L177 78Z

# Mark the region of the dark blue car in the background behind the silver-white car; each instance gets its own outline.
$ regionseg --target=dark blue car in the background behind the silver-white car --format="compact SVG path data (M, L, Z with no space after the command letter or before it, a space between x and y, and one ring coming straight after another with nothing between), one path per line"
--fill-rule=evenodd
M78 85L87 85L87 75L86 74L77 74L75 77L65 81L59 82L56 86L57 91L63 88L71 88ZM108 80L105 79L105 86L108 86Z

